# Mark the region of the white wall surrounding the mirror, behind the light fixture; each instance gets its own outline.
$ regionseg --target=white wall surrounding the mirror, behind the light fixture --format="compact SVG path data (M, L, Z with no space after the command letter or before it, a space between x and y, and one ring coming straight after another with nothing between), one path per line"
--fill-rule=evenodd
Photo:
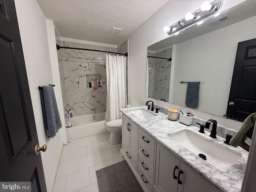
M220 11L224 11L244 0L223 0L223 6ZM130 104L140 106L144 105L146 100L153 100L154 103L167 108L181 109L181 106L175 106L166 102L149 99L146 97L146 63L147 47L158 40L167 37L163 27L173 24L181 18L184 18L187 12L193 12L200 8L204 0L169 0L164 6L157 10L148 20L138 27L129 36L129 102ZM138 85L138 82L139 85ZM183 109L185 109L183 107ZM240 122L213 116L196 110L190 110L195 116L208 120L214 118L218 124L238 130Z

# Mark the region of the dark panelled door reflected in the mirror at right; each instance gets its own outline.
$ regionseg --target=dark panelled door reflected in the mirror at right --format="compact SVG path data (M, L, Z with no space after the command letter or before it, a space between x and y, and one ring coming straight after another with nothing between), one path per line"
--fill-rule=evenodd
M243 122L256 112L256 39L238 43L227 114Z

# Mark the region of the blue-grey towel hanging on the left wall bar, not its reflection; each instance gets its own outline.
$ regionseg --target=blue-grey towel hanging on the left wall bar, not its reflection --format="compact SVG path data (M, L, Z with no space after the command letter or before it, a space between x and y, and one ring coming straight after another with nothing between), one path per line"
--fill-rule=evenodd
M57 107L56 98L52 86L42 86L40 90L42 110L44 116L44 126L48 138L56 136L62 127L60 114Z

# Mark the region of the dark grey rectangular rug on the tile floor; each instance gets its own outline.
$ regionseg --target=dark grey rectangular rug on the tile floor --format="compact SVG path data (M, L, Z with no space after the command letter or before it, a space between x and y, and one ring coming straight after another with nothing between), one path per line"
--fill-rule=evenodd
M143 192L126 161L96 171L99 192Z

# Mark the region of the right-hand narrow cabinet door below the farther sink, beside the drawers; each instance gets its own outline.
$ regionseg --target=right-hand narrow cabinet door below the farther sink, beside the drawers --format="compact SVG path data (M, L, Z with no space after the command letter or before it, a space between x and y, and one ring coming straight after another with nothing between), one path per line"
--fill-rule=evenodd
M130 151L138 159L138 126L130 121Z

